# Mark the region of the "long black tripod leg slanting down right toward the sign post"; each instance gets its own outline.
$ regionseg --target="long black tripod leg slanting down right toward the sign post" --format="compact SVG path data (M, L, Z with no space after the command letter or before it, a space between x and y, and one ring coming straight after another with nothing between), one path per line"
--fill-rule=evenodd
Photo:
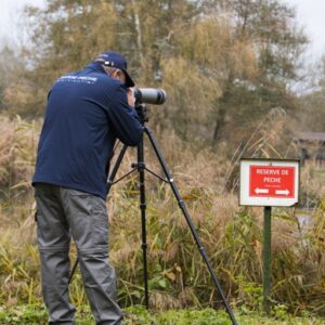
M177 185L173 182L173 179L172 179L171 173L170 173L170 171L169 171L169 169L167 167L167 164L166 164L166 161L165 161L165 159L164 159L164 157L162 157L162 155L161 155L161 153L160 153L160 151L158 148L156 139L154 138L153 132L152 132L152 130L150 128L144 127L144 132L147 134L147 136L148 136L148 139L150 139L150 141L151 141L151 143L153 145L153 148L154 148L154 151L156 153L156 156L157 156L157 158L158 158L158 160L159 160L159 162L161 165L161 168L162 168L162 170L164 170L164 172L166 174L166 178L168 179L169 184L170 184L170 186L172 188L172 192L173 192L173 194L174 194L174 196L176 196L176 198L178 200L179 207L182 210L182 212L183 212L183 214L184 214L184 217L186 219L186 222L187 222L187 224L190 226L191 233L192 233L192 235L193 235L193 237L195 239L195 243L196 243L196 245L198 247L198 251L200 252L200 255L202 255L202 257L203 257L203 259L204 259L204 261L205 261L205 263L206 263L206 265L207 265L207 268L209 270L209 273L210 273L210 275L212 277L214 286L216 286L216 288L217 288L217 290L218 290L218 292L219 292L219 295L220 295L220 297L221 297L221 299L222 299L222 301L224 303L226 312L229 313L229 315L230 315L230 317L231 317L231 320L233 322L233 325L237 325L236 320L234 317L234 314L233 314L233 312L232 312L232 310L231 310L231 308L230 308L230 306L229 306L229 303L227 303L227 301L226 301L226 299L225 299L225 297L224 297L224 295L222 292L222 289L221 289L221 286L219 284L219 281L218 281L217 276L216 276L214 272L213 272L213 269L212 269L212 265L211 265L211 263L209 261L209 258L207 256L206 249L203 246L203 244L202 244L202 242L200 242L200 239L199 239L199 237L198 237L198 235L196 233L196 230L195 230L194 224L193 224L193 222L191 220L191 217L190 217L188 210L186 208L186 205L183 202L183 199L182 199L182 197L181 197L181 195L179 193L179 190L178 190Z

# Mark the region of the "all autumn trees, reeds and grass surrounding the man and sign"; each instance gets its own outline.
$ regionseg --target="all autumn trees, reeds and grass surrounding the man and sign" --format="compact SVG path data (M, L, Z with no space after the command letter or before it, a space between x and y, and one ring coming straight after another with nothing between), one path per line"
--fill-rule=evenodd
M53 0L25 14L31 43L0 52L0 323L46 322L30 185L41 116L53 80L107 49L128 56L139 87L167 90L150 123L240 324L324 323L313 317L325 310L324 171L306 166L300 206L273 209L270 320L260 316L262 210L237 200L242 157L297 158L296 131L325 128L324 63L308 94L292 91L311 79L295 10L280 0ZM145 156L160 173L147 144ZM120 174L134 157L128 150ZM136 174L107 200L127 324L227 324L211 310L223 306L171 190L150 176L146 190L151 314L134 307L143 303ZM78 317L90 320L78 270L70 290Z

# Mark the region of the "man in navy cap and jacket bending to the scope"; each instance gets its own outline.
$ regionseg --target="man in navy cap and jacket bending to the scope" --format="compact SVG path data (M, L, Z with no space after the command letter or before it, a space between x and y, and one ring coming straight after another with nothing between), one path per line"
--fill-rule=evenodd
M96 324L121 322L108 263L105 200L116 139L131 146L142 139L133 86L125 57L104 52L83 70L58 78L49 93L32 185L50 324L75 324L68 296L70 236Z

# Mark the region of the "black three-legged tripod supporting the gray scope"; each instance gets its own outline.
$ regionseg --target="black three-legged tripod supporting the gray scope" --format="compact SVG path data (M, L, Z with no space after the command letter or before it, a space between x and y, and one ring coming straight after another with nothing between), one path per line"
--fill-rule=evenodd
M221 286L219 284L219 281L213 272L213 269L212 269L212 265L209 261L209 258L207 256L207 252L206 252L206 249L205 247L203 246L197 233L196 233L196 230L194 227L194 224L191 220L191 217L190 217L190 213L188 213L188 210L186 208L186 205L185 203L183 202L180 193L179 193L179 190L177 187L177 185L174 184L174 181L171 177L171 173L169 171L169 168L167 167L167 164L158 148L158 145L157 145L157 142L156 142L156 139L154 138L153 135L153 131L147 127L145 126L145 122L148 121L147 119L147 116L146 116L146 106L145 104L139 104L136 107L136 113L139 115L139 118L140 118L140 121L143 126L143 134L146 134L153 148L154 148L154 152L157 156L157 159L159 160L159 164L162 168L162 171L165 173L165 178L158 176L157 173L155 173L154 171L150 170L148 168L146 168L145 166L145 162L144 162L144 145L143 145L143 136L142 136L142 140L140 142L140 144L138 144L138 161L132 164L131 167L131 171L129 171L128 173L126 173L125 176L122 176L120 179L114 181L116 174L117 174L117 171L119 169L119 166L122 161L122 158L126 154L126 151L128 148L127 145L123 145L118 157L117 157L117 160L115 162L115 166L113 168L113 171L112 173L109 174L108 177L108 181L107 181L107 193L109 192L110 190L110 186L113 184L116 184L117 182L119 182L120 180L125 179L126 177L128 177L129 174L131 174L132 172L134 171L138 171L139 172L139 184L140 184L140 210L141 210L141 227L142 227L142 250L143 250L143 276L144 276L144 299L145 299L145 306L146 308L148 309L148 285L147 285L147 259L146 259L146 250L147 250L147 243L146 243L146 222L145 222L145 210L146 210L146 199L145 199L145 180L144 180L144 172L147 171L150 172L151 174L155 176L156 178L160 179L161 181L170 184L171 186L171 190L173 192L173 195L178 202L178 205L180 207L180 209L182 210L183 212L183 216L185 217L186 219L186 222L187 222L187 225L190 226L190 230L191 230L191 233L193 235L193 238L197 245L197 248L198 248L198 251L200 252L208 270L209 270L209 273L211 275L211 278L213 281L213 284L217 288L217 291L219 292L222 301L223 301L223 304L226 309L226 312L229 313L229 316L233 323L233 325L237 325L236 323L236 320L234 317L234 314L222 292L222 289L221 289ZM70 283L72 278L73 278L73 275L76 271L76 268L77 268L77 264L78 264L78 259L76 260L75 262L75 265L73 266L72 269L72 272L70 272L70 276L69 276L69 281L68 283Z

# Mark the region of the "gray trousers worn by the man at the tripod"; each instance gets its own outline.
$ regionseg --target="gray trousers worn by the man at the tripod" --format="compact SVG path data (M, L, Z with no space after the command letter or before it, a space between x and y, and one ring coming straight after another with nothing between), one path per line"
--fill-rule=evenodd
M75 324L69 301L70 237L76 243L82 282L96 324L120 324L116 275L108 262L105 200L80 191L36 184L37 238L43 300L49 324Z

